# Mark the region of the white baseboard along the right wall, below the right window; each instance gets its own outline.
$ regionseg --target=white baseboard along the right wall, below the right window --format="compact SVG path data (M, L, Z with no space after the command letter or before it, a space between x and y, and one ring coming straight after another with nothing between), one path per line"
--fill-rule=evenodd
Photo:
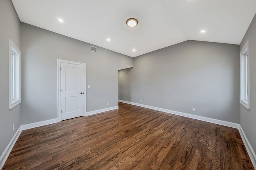
M250 145L241 125L239 125L239 128L238 128L239 132L240 132L240 135L242 137L242 141L244 142L244 146L248 152L248 155L250 156L250 159L252 161L252 164L254 166L254 168L256 168L256 154L254 152L254 150L252 149L252 146Z

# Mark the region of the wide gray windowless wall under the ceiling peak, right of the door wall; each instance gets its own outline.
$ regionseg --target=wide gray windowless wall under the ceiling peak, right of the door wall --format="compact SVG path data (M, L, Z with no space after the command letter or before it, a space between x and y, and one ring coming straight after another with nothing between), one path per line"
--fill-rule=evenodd
M239 123L239 45L172 45L134 58L118 83L120 100Z

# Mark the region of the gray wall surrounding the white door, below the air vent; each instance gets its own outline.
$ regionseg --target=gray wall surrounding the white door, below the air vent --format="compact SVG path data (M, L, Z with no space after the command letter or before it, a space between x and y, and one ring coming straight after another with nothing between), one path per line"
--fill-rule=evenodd
M21 23L21 124L57 118L57 59L86 63L88 111L118 106L118 64L133 64L131 57ZM110 105L107 106L107 102Z

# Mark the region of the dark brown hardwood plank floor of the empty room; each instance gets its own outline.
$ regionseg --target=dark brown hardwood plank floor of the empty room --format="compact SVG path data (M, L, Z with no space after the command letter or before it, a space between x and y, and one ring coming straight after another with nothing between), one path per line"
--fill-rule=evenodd
M237 129L119 103L22 131L4 170L254 169Z

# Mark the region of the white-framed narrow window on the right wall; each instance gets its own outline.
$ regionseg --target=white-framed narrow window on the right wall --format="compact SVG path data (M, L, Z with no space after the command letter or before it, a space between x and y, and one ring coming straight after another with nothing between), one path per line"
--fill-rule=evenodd
M250 109L250 41L240 51L240 104Z

